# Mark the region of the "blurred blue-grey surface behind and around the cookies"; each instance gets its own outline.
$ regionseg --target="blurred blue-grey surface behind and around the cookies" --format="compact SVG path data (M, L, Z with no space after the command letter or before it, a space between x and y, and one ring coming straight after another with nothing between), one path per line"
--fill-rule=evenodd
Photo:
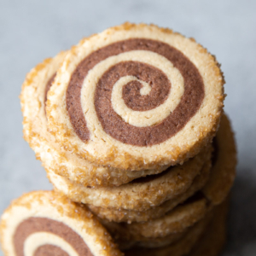
M255 10L254 0L0 0L0 214L24 192L51 189L22 138L18 96L26 73L91 33L143 21L196 38L222 63L239 152L224 255L256 255Z

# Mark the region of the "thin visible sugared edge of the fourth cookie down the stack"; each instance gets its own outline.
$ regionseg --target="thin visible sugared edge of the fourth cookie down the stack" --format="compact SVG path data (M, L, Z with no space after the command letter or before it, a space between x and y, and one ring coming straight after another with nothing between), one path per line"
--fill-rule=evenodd
M157 207L150 207L148 210L131 211L122 208L103 208L95 207L93 205L87 205L91 212L94 212L97 216L102 219L107 219L108 221L114 222L127 222L131 224L132 222L146 222L150 219L161 218L166 214L166 212L171 211L177 205L186 201L190 196L194 195L196 191L202 189L202 187L207 182L209 177L209 163L202 168L201 174L195 177L194 182L182 195L177 196L175 199L165 201Z

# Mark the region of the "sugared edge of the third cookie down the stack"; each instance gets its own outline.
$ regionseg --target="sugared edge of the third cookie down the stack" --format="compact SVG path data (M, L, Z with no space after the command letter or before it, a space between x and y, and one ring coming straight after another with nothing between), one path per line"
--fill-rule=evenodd
M182 166L169 167L165 172L141 177L119 187L91 188L70 182L67 178L48 172L49 181L73 201L96 207L145 211L167 200L175 200L189 189L205 162L211 162L212 148L208 147ZM210 170L210 165L208 166ZM208 172L209 172L208 170Z

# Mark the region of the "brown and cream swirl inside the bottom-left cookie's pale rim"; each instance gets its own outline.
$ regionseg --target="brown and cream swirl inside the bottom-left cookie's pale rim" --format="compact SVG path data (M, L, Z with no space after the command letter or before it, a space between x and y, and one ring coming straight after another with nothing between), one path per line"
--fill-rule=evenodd
M13 239L17 256L45 255L48 249L52 255L92 256L78 233L50 218L27 218L19 224Z

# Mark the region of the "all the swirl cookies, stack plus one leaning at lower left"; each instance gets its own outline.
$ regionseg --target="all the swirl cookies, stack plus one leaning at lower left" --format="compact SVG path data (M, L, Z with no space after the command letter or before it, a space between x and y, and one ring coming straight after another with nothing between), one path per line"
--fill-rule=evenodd
M223 86L207 49L154 25L110 28L34 67L24 137L55 191L3 214L6 255L218 255L236 175Z

